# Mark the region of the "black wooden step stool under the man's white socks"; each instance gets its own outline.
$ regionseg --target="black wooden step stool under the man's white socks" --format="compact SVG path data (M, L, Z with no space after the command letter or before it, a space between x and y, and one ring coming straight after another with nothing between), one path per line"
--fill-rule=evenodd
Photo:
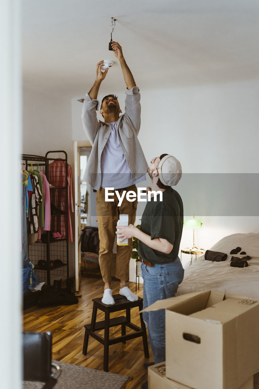
M126 340L135 339L142 336L143 346L144 346L144 355L146 358L149 358L149 349L147 345L147 331L145 327L145 323L142 317L142 313L140 313L140 324L141 328L135 326L135 324L130 322L130 310L131 308L138 307L139 311L143 309L143 298L138 298L137 301L129 301L126 297L121 296L120 294L115 294L113 296L115 300L114 305L107 305L101 302L102 297L93 298L93 313L91 324L86 324L84 327L86 329L84 335L84 345L83 345L83 354L87 354L87 346L89 335L91 335L94 339L98 340L101 344L104 345L103 350L103 370L108 371L108 360L109 360L109 346L116 343L126 343ZM97 309L105 312L105 320L96 322L96 314ZM110 319L110 313L117 312L121 310L126 310L126 317L119 316ZM121 326L121 336L118 336L114 339L109 339L109 328ZM126 335L126 326L133 329L135 332ZM100 331L104 329L104 338L96 333L96 331Z

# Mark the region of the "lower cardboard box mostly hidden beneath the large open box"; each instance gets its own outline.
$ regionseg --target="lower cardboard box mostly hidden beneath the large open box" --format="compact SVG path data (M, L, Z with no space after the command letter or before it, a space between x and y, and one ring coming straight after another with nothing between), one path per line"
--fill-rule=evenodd
M189 386L170 380L170 378L166 378L165 362L150 366L148 369L148 373L149 389L192 389ZM253 389L253 382L254 377L250 377L249 380L247 380L238 389Z

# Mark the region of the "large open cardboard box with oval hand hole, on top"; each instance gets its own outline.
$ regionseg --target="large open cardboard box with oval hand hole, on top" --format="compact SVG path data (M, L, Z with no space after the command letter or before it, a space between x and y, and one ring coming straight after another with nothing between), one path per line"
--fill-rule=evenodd
M166 309L166 377L236 389L259 371L259 301L217 291L156 301Z

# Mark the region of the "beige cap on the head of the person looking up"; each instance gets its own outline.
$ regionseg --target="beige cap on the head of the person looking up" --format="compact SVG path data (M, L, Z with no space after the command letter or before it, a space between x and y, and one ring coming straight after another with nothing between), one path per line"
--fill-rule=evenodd
M158 175L162 184L175 186L182 177L182 166L178 159L172 155L166 155L159 162Z

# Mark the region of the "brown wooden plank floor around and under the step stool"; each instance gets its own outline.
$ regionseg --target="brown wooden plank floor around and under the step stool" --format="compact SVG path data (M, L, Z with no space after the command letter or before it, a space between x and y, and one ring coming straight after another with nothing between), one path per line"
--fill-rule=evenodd
M113 294L119 293L119 283L113 282ZM135 293L135 283L129 282L129 289ZM87 355L82 354L84 342L84 324L91 322L93 298L103 294L103 281L100 279L81 278L80 290L82 294L79 303L75 305L61 305L59 307L32 307L24 311L24 331L52 331L53 332L53 359L79 366L103 371L103 345L91 336L89 337ZM137 290L142 297L142 284ZM120 316L123 312L111 314L111 317ZM104 320L103 312L98 310L97 321ZM140 326L138 308L131 309L131 322ZM126 328L126 333L131 330ZM104 330L100 331L103 335ZM121 327L110 329L110 338L120 336ZM128 340L126 344L118 343L109 347L109 372L130 376L123 389L138 389L140 384L147 380L147 369L143 363L153 361L149 346L150 359L144 357L142 338Z

